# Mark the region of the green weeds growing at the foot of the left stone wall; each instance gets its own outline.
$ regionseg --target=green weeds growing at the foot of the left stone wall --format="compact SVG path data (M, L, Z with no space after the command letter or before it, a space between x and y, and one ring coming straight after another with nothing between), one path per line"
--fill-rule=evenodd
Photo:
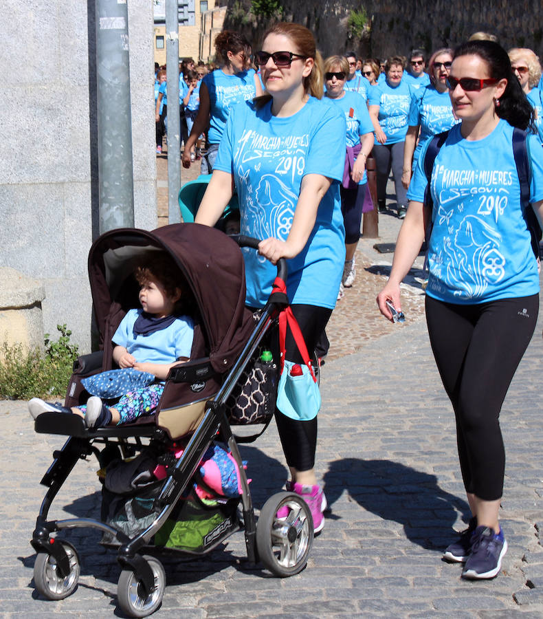
M0 397L28 400L64 395L78 347L70 344L71 331L56 325L60 336L56 342L45 334L45 354L28 350L21 344L3 344L0 354Z

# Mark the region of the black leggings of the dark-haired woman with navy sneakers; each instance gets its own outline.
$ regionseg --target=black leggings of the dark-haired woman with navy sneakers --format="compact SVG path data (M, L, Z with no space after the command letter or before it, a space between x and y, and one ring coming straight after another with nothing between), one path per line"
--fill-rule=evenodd
M537 294L477 305L426 296L430 343L456 417L464 486L483 501L502 496L500 409L535 329L538 309Z

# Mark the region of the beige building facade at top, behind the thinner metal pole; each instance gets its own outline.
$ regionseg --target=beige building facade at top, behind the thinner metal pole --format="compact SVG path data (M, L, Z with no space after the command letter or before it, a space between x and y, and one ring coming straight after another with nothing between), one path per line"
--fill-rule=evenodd
M226 7L220 0L177 0L179 58L208 62L214 56L215 36L223 28ZM166 0L153 0L155 63L166 64Z

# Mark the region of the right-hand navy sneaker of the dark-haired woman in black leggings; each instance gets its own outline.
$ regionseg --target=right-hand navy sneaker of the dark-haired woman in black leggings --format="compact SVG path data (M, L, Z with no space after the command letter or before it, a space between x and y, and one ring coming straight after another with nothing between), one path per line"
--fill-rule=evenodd
M477 527L472 536L472 552L467 558L462 578L494 578L500 573L507 541L500 528L498 534L488 527Z

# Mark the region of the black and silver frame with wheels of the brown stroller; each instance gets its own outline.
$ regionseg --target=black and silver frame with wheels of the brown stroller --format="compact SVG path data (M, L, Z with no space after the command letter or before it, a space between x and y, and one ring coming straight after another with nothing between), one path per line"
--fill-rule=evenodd
M258 248L257 239L241 235L234 239L241 247ZM286 261L281 259L278 261L278 277L284 281L286 274ZM175 462L175 466L168 468L168 475L155 499L159 513L151 525L132 538L96 519L48 520L49 508L76 462L79 459L87 459L87 456L93 453L98 457L100 452L96 446L93 446L93 443L97 442L107 446L110 439L115 439L113 442L120 446L126 457L146 446L142 439L162 444L171 443L172 440L168 433L155 425L144 424L87 428L84 420L78 415L42 413L36 417L34 429L37 433L69 435L63 447L54 452L54 461L41 479L41 484L47 486L48 489L41 503L36 528L30 542L38 553L34 565L34 583L41 594L49 599L62 599L76 589L78 582L80 568L76 550L66 541L59 543L52 534L70 528L94 528L118 540L117 560L122 567L118 583L118 602L122 610L129 616L135 617L153 613L162 603L165 589L164 569L155 557L143 555L142 550L155 548L148 544L153 535L164 525L186 488L192 483L192 477L195 475L203 453L218 433L223 442L228 445L239 467L243 492L239 499L229 499L228 502L234 501L237 506L241 501L243 518L239 518L237 508L233 509L234 519L230 519L230 523L225 522L221 531L213 531L212 535L216 534L215 539L201 552L164 550L184 554L207 554L234 532L243 528L247 560L250 564L260 560L267 569L280 577L291 576L304 569L313 542L313 519L309 507L301 497L293 492L278 492L266 501L257 525L241 453L225 408L226 400L241 377L243 369L250 362L256 347L261 343L279 312L288 304L289 301L285 294L272 292L241 355L234 362L217 394L206 402L203 419L192 433L184 452ZM177 371L184 372L184 367L174 367L170 370L170 376L172 373L175 375ZM244 441L243 437L238 438L241 442L254 439L254 437L249 437ZM135 442L129 442L129 439L134 439ZM285 506L289 510L289 516L286 519L280 519L277 517L277 512ZM105 545L116 546L108 543Z

